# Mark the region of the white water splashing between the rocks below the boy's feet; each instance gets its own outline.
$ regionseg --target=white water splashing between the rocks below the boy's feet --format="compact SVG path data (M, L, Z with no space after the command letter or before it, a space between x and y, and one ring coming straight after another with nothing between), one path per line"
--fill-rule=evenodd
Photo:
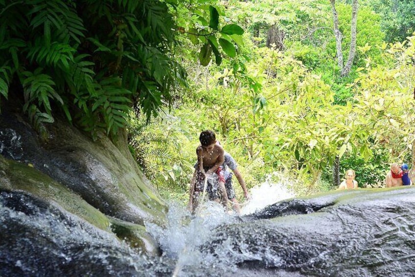
M235 269L234 261L218 258L217 252L207 254L200 250L216 227L235 220L222 205L208 201L203 204L199 215L192 218L188 211L173 203L167 219L164 229L155 224L146 224L146 228L159 241L163 257L175 261L172 276L197 276L198 272L205 276L206 268L212 269L212 275L218 274L218 270Z

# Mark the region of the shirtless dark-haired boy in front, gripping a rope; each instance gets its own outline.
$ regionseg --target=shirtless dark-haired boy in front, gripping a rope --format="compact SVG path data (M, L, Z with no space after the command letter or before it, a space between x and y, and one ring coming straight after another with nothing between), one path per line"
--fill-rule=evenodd
M203 194L205 178L208 178L207 192L209 200L219 202L217 191L222 194L222 205L228 207L228 195L225 188L225 177L222 164L224 162L224 149L216 144L216 136L210 130L205 130L199 137L200 145L196 149L197 169L196 176L192 179L190 190L194 188L194 193L190 192L193 212L199 204L200 197Z

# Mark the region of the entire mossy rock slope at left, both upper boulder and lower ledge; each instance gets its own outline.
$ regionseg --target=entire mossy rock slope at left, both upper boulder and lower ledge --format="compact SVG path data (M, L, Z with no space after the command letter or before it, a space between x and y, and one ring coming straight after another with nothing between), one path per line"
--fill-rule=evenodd
M23 117L0 115L0 190L44 201L152 255L144 223L163 225L167 206L142 175L125 133L92 141L55 122L42 140Z

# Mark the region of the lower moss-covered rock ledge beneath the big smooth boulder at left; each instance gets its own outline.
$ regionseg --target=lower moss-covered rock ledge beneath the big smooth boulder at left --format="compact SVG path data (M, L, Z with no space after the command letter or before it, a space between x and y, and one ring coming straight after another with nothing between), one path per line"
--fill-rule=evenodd
M80 225L90 225L89 229L97 227L97 233L105 231L108 233L107 236L125 240L133 248L138 248L147 254L160 254L157 242L144 226L108 217L69 188L39 172L31 165L7 160L1 155L0 192L9 194L8 205L19 212L33 214L34 210L37 210L38 216L42 217L45 207L51 207L59 210L59 213L65 217L79 217L79 222L85 222ZM24 195L24 197L22 198L20 195ZM31 199L35 205L25 204L21 199ZM34 208L35 206L38 208ZM8 223L4 222L3 225L7 226Z

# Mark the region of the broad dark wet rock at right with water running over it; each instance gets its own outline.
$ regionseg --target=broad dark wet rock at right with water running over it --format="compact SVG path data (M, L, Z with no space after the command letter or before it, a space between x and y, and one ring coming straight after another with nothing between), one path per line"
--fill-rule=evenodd
M414 187L281 201L245 221L218 229L203 247L237 257L241 274L414 276Z

